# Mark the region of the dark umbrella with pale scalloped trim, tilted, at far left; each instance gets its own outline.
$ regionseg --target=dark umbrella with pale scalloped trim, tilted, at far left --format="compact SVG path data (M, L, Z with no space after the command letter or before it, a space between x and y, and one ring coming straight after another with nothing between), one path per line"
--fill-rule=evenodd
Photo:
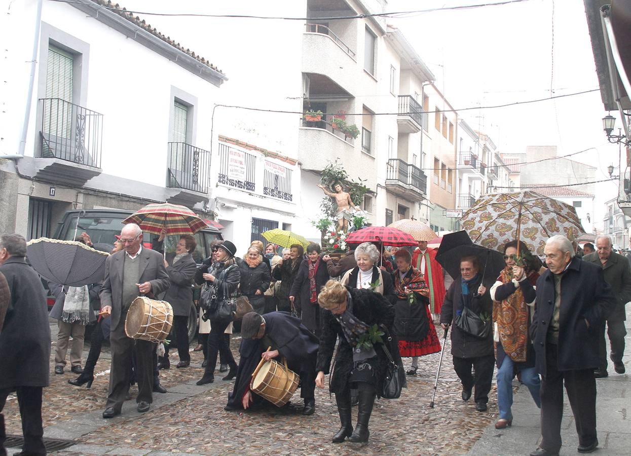
M108 255L75 241L38 238L27 243L33 269L49 281L68 286L102 281Z

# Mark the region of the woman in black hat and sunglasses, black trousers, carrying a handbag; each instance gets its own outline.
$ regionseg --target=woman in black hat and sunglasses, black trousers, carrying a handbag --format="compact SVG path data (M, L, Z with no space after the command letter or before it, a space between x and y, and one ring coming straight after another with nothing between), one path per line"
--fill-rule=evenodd
M216 289L216 300L219 302L227 299L237 291L241 281L241 272L235 261L237 247L230 241L223 241L218 245L216 252L205 259L195 273L197 284L209 284ZM221 351L224 360L228 361L230 371L223 380L232 380L237 375L237 363L232 356L230 346L223 336L230 322L210 320L211 329L208 334L208 357L206 358L206 370L204 376L198 380L198 385L206 385L215 381L215 366L217 353Z

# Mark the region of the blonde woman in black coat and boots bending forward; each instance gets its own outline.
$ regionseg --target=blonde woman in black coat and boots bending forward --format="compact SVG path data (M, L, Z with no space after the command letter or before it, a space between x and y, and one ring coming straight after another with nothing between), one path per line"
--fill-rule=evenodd
M370 414L375 395L382 390L388 358L379 342L370 349L358 349L357 342L372 325L384 325L390 330L394 322L394 308L379 293L345 287L334 280L329 280L322 287L318 302L326 309L322 311L322 335L315 368L315 385L319 388L324 388L324 375L329 373L335 342L339 337L335 367L329 380L329 390L335 393L341 423L333 442L344 441L346 437L355 442L368 441ZM351 426L351 387L359 390L355 431Z

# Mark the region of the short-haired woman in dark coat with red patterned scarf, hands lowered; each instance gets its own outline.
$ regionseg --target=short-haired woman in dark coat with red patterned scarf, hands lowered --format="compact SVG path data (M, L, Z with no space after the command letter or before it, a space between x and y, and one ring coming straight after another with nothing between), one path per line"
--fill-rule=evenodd
M289 301L295 305L296 296L299 296L302 324L318 337L320 336L320 307L317 304L317 295L320 294L322 285L329 279L326 261L320 258L320 246L310 243L307 246L307 259L303 260L298 267L298 274L289 292Z

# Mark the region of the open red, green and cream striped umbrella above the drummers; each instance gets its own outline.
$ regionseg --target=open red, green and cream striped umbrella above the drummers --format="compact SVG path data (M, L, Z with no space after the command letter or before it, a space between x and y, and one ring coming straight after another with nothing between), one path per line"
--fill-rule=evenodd
M206 223L191 209L178 204L151 203L124 219L122 223L136 223L144 233L159 235L190 235L206 228Z

